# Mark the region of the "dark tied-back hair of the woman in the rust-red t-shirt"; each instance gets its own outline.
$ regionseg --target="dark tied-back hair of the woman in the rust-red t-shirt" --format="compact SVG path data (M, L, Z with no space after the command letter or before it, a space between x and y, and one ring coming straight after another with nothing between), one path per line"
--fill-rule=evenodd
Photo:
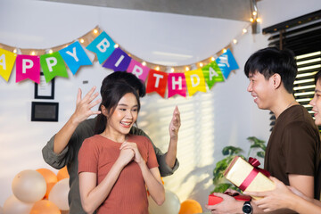
M103 89L103 90L102 90ZM111 115L118 103L119 100L126 94L131 93L136 96L137 100L137 111L140 110L140 102L139 96L136 93L136 88L129 86L127 83L118 81L109 83L107 85L103 85L101 89L102 95L102 103L99 105L99 111L102 111L102 105L108 111L108 114ZM96 124L95 124L95 134L103 133L104 129L106 128L107 117L103 115L103 113L97 116Z

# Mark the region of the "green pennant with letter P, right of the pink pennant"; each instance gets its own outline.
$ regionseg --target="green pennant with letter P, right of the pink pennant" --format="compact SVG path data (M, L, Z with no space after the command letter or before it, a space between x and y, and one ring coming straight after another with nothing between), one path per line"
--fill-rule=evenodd
M68 78L67 69L59 52L48 53L40 56L40 65L45 75L45 82L49 82L55 76Z

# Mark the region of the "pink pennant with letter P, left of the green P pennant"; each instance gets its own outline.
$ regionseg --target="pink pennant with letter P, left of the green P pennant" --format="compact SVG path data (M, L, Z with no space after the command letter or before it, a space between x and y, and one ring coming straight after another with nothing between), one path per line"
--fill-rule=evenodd
M16 82L26 78L37 84L40 83L40 60L39 56L18 55L16 59Z

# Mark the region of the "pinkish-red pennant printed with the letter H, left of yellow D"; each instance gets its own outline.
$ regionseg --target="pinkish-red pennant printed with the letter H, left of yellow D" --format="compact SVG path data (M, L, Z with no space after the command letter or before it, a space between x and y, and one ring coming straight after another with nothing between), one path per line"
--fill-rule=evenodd
M184 73L169 73L169 97L173 95L186 96L186 81Z

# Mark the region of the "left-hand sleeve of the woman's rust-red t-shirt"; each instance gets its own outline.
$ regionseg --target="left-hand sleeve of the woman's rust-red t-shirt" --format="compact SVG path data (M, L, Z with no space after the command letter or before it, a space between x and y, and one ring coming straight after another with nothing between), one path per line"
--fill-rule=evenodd
M90 138L84 141L78 152L78 174L80 172L98 172L98 149Z

